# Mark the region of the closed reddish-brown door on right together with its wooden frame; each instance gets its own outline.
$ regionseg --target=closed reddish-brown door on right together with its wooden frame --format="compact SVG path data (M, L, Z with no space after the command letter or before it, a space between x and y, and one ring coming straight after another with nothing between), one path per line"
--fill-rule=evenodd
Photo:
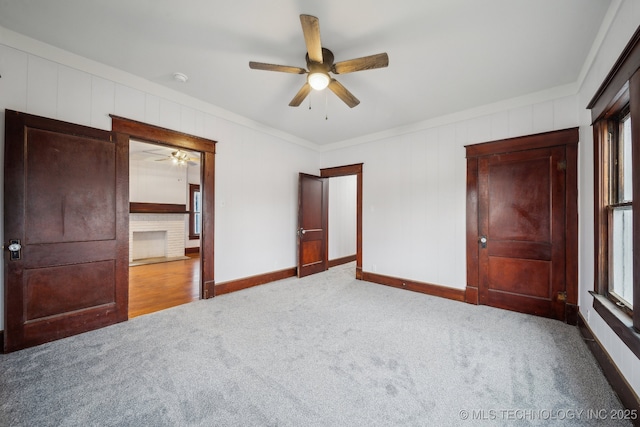
M578 128L469 145L465 299L578 313Z

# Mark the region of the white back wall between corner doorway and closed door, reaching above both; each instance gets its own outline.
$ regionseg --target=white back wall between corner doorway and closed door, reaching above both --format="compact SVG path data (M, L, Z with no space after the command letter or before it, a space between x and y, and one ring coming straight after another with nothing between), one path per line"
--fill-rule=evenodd
M575 127L577 98L516 106L323 153L364 163L363 269L466 287L465 145ZM446 121L446 120L443 120Z

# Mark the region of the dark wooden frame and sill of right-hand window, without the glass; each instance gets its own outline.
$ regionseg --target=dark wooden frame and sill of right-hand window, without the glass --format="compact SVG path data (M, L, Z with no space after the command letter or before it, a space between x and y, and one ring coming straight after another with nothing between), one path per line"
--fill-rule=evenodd
M609 218L611 206L627 203L609 201L611 156L609 134L619 133L617 127L623 114L631 118L632 201L640 200L640 27L623 50L595 96L587 106L591 110L594 139L594 296L593 307L629 349L640 357L640 233L632 236L633 307L624 310L609 299ZM612 129L612 124L615 128ZM637 204L637 202L636 202ZM640 209L632 211L633 230L640 230ZM626 311L626 313L625 313Z

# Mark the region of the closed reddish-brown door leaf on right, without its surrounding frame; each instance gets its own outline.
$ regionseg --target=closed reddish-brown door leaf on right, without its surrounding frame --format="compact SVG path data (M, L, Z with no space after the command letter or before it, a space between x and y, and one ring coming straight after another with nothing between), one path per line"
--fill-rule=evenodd
M564 320L565 147L478 159L479 302Z

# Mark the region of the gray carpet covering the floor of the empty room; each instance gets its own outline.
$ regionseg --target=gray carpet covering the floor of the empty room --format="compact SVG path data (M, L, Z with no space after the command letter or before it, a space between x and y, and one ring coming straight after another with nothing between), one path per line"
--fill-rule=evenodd
M575 327L353 272L0 355L0 425L625 425Z

